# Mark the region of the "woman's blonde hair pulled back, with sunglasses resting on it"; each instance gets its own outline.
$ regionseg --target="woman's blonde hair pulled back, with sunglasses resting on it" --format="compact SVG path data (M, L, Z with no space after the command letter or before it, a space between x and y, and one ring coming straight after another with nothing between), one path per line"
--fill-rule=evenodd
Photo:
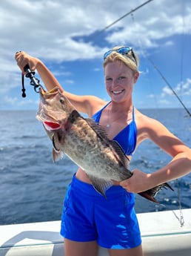
M106 59L104 59L104 68L107 66L109 62L115 62L116 60L119 60L123 62L124 65L126 65L128 68L133 70L134 73L137 73L139 65L138 55L134 51L134 54L132 54L132 50L130 50L127 54L118 53L117 50L121 47L125 46L116 46L112 48L113 51L107 56Z

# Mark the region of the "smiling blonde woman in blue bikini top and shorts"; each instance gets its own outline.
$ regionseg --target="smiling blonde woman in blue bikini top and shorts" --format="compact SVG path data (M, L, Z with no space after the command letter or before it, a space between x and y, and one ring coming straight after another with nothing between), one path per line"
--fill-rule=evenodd
M110 102L96 96L77 96L61 88L50 70L27 53L16 53L16 62L24 71L37 70L47 90L58 86L80 112L93 117L131 158L135 148L146 139L155 142L172 161L153 174L133 170L133 177L113 182L107 199L93 188L81 168L73 177L64 201L61 234L67 256L96 256L98 244L110 256L141 256L141 235L134 211L133 193L146 191L190 173L191 150L155 119L141 114L133 105L137 82L138 56L131 47L114 47L104 54L104 78Z

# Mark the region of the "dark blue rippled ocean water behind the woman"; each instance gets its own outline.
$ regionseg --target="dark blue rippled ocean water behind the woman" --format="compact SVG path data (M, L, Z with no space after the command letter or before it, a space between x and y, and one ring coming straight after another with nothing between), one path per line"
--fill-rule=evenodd
M191 147L191 118L184 109L143 110ZM52 145L36 111L0 111L0 225L60 220L64 194L76 165L67 157L53 163ZM130 168L152 172L171 158L153 142L143 142ZM170 182L152 203L135 195L137 213L191 207L191 174Z

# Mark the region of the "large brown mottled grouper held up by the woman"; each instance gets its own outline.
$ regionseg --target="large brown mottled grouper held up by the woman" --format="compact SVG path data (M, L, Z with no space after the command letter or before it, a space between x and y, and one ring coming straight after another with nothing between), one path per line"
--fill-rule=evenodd
M66 154L85 171L93 187L104 197L113 181L132 177L133 172L128 169L129 159L118 142L108 139L101 125L81 116L59 88L47 92L40 89L39 93L36 118L43 122L53 142L54 162ZM171 188L168 183L163 183L138 194L158 203L155 195L167 187Z

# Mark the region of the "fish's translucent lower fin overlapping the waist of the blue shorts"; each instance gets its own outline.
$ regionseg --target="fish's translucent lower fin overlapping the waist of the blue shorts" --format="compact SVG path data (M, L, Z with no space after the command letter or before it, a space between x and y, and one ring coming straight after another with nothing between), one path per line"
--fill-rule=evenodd
M111 180L104 180L102 178L97 178L89 174L87 174L87 176L93 183L93 187L96 189L96 191L98 191L98 193L101 194L103 197L106 197L105 191L113 186L113 182Z

